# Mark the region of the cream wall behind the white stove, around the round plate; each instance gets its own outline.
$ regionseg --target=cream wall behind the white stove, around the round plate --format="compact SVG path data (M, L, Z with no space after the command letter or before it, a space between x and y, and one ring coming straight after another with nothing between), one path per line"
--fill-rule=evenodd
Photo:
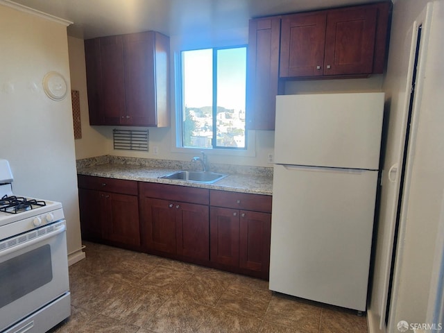
M71 94L53 101L42 86L58 71L70 89L66 26L0 3L0 45L0 158L10 162L15 194L62 202L74 253L81 243Z

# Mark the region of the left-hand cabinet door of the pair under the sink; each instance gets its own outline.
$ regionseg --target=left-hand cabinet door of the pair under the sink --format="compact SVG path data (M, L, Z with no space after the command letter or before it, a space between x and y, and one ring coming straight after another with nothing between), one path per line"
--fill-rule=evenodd
M176 209L169 200L142 198L142 237L151 250L176 253Z

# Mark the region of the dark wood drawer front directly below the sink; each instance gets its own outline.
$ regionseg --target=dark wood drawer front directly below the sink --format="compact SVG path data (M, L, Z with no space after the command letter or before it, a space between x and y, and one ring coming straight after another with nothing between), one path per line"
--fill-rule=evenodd
M141 182L139 190L139 196L141 197L182 201L183 203L198 203L200 205L208 205L209 203L208 189Z

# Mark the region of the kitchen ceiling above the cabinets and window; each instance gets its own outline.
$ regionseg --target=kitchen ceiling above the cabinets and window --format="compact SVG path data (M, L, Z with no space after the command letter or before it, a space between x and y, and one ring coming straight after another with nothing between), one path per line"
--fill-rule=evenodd
M369 0L13 0L74 22L68 35L102 37L140 31L184 35L246 28L248 19L368 3ZM370 0L371 1L371 0Z

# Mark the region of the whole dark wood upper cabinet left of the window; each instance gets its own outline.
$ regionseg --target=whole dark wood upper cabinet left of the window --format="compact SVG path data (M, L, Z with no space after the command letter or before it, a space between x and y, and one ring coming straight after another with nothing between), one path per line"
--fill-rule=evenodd
M91 125L169 126L169 37L85 40L85 62Z

